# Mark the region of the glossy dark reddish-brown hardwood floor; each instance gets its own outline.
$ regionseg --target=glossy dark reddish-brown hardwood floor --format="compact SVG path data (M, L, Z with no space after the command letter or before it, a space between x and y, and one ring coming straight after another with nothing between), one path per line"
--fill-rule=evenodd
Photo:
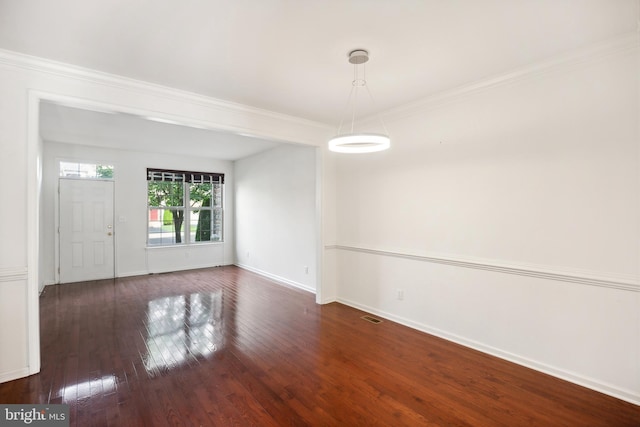
M640 407L236 267L49 286L42 371L0 403L72 426L640 426Z

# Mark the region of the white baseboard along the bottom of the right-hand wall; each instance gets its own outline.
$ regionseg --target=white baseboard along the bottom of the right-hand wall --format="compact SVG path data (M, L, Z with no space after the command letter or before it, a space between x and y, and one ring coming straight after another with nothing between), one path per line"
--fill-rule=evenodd
M472 348L474 350L481 351L483 353L490 354L495 357L499 357L500 359L508 360L509 362L516 363L518 365L526 366L527 368L534 369L539 372L543 372L545 374L554 376L556 378L563 379L565 381L569 381L574 384L581 385L583 387L589 388L591 390L598 391L600 393L607 394L609 396L613 396L615 398L624 400L629 403L633 403L634 405L640 405L640 393L633 391L622 389L620 387L613 386L611 384L603 383L602 381L585 377L580 374L576 374L575 372L567 371L561 368L557 368L555 366L547 365L542 362L538 362L526 357L519 356L517 354L513 354L499 348L495 348L486 344L482 344L480 342L470 340L459 335L451 334L449 332L443 331L438 328L431 327L429 325L425 325L423 323L415 322L410 319L406 319L401 316L396 316L392 313L388 313L386 311L378 310L373 307L366 306L364 304L359 304L355 301L351 301L345 298L338 298L337 302L348 305L350 307L357 308L362 311L366 311L367 313L375 314L376 316L382 317L387 320L391 320L392 322L399 323L401 325L407 326L412 329L416 329L421 332L425 332L430 335L434 335L440 338L443 338L447 341L454 342L456 344L463 345L465 347Z

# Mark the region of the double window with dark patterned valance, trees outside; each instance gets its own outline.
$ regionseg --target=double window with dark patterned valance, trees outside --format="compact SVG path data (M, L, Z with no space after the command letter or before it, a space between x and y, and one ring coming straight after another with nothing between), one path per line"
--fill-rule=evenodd
M147 169L147 244L222 242L223 187L220 173Z

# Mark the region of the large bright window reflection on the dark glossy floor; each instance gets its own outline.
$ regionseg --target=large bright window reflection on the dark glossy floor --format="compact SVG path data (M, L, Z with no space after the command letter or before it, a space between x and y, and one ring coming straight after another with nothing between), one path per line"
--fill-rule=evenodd
M198 363L224 347L222 290L149 301L145 326L149 374Z

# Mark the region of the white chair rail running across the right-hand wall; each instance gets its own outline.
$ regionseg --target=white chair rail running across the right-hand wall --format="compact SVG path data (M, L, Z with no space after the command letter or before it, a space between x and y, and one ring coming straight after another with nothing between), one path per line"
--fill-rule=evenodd
M422 261L435 264L451 265L455 267L473 268L498 273L514 274L517 276L536 277L539 279L554 280L558 282L579 283L583 285L599 286L624 291L640 292L640 282L636 278L617 276L613 274L596 274L593 272L563 269L554 267L515 264L494 260L481 260L476 258L458 257L440 254L417 255L398 251L369 249L356 246L331 245L325 249L335 249L349 252L358 252L369 255L403 258L413 261Z

